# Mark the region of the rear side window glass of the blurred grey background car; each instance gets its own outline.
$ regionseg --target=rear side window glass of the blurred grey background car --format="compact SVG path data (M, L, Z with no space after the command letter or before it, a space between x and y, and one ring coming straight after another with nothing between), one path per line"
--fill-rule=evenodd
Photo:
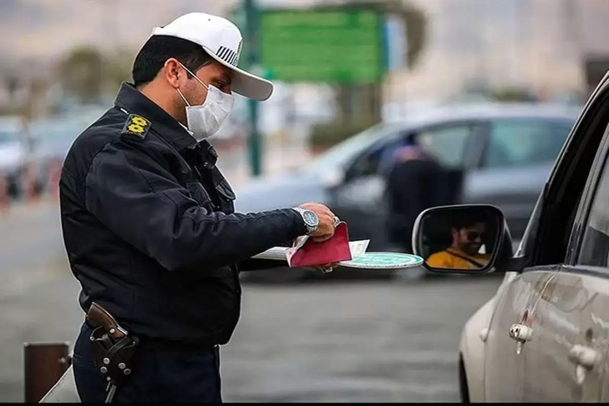
M501 120L491 124L485 167L554 162L571 125L540 120Z

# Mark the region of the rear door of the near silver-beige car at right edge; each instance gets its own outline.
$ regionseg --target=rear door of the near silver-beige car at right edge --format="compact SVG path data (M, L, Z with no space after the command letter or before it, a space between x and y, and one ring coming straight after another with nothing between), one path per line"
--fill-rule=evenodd
M609 128L577 209L565 265L535 313L525 401L598 402L609 368ZM530 371L529 371L530 369Z

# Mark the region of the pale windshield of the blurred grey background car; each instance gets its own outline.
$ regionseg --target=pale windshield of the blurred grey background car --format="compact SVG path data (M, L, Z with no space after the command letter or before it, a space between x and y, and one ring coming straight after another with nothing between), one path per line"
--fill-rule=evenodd
M397 123L374 125L334 145L334 147L314 158L304 169L308 172L323 173L333 167L344 167L359 151L366 149L368 145L374 144L379 139L391 136L403 127L403 124Z

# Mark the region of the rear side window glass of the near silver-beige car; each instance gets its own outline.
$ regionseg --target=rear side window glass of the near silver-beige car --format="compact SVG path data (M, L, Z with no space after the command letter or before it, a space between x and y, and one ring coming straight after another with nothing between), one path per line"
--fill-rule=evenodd
M609 165L603 172L584 229L579 265L609 266Z

